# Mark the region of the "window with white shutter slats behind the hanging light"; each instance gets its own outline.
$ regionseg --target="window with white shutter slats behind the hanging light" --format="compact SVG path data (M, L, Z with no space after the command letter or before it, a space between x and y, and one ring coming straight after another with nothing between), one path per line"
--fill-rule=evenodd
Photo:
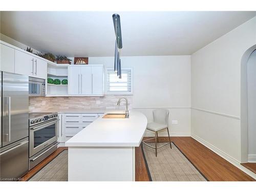
M106 73L107 94L132 94L132 68L122 68L121 79L113 68L107 68Z

